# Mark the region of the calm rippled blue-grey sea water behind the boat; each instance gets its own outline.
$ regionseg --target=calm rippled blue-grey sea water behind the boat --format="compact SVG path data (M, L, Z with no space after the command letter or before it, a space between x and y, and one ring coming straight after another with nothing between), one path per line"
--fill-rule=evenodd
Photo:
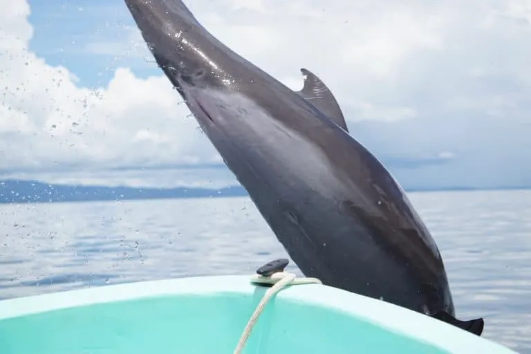
M410 194L458 317L531 353L531 191ZM0 205L0 298L205 274L286 257L248 198ZM296 270L292 266L292 270Z

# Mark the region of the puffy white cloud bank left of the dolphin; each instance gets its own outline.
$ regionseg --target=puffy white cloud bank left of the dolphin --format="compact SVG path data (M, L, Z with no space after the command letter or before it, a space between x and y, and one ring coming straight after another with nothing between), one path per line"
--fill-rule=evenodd
M118 68L106 87L80 87L67 68L30 52L29 7L15 3L3 14L10 22L1 19L0 169L219 160L196 143L201 133L165 77Z

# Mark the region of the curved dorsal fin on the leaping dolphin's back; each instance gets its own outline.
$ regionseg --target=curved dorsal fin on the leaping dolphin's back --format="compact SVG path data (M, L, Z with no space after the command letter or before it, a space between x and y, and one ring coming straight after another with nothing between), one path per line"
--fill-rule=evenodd
M335 100L330 88L311 71L301 68L301 73L304 75L304 86L297 93L310 102L310 104L313 104L315 108L319 109L330 120L333 120L335 124L342 127L344 131L348 132L341 108L339 108L339 104Z

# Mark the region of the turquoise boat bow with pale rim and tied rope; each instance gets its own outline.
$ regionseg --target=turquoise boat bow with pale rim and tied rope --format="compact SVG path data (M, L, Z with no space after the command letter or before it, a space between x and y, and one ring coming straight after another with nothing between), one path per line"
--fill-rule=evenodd
M260 269L3 300L0 353L515 353L407 308Z

